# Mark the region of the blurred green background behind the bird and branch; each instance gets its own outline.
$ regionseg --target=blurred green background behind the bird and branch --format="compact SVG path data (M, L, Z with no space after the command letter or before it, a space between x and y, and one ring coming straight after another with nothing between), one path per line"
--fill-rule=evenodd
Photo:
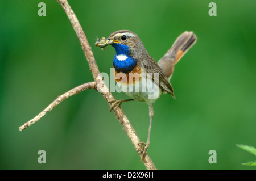
M19 126L58 95L93 81L79 40L56 1L0 1L0 169L145 169L101 94L81 92L38 123ZM193 31L197 43L175 67L170 95L154 103L148 154L158 169L255 169L241 163L256 146L256 2L69 0L101 72L112 73L115 50L95 47L97 37L127 29L158 61L177 36ZM113 93L117 99L128 98ZM148 106L122 108L146 141ZM38 151L46 151L46 164ZM216 150L217 163L208 162Z

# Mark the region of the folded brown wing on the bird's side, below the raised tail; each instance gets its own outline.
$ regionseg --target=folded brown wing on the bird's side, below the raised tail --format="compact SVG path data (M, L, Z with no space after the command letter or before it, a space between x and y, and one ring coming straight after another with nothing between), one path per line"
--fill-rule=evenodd
M154 81L156 85L159 85L162 90L168 92L174 97L174 90L172 89L171 83L152 57L147 57L147 60L142 60L142 67L146 73L152 73L152 76L150 76L150 74L148 74L148 76L152 78L152 81ZM158 80L155 79L154 73L159 73Z

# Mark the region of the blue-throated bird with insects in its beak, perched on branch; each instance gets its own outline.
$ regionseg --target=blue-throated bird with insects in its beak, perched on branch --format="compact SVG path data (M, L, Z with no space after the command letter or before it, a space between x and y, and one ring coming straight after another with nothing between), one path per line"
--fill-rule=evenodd
M175 98L174 90L170 83L174 65L195 44L196 39L196 35L193 32L184 32L177 37L172 47L158 63L147 53L138 35L129 30L113 32L107 39L102 37L95 43L96 46L103 50L107 45L112 45L115 48L116 54L113 60L115 81L121 90L132 98L117 100L114 105L119 106L122 102L138 100L139 102L147 103L149 106L150 125L147 142L139 143L143 146L142 159L150 145L151 124L154 116L152 103L163 92L167 92ZM112 108L110 108L110 111Z

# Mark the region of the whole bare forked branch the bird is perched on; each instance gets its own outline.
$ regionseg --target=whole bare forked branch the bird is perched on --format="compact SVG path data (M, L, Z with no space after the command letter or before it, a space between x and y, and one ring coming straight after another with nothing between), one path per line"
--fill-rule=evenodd
M64 11L68 15L68 18L76 32L77 37L79 38L79 41L82 46L82 50L84 50L85 57L88 60L88 64L90 67L90 71L92 71L94 82L85 83L86 89L96 89L98 92L101 92L102 96L106 100L106 102L109 103L110 106L114 106L115 98L109 91L108 87L105 85L104 81L102 80L102 75L100 74L100 71L98 70L98 66L96 64L96 61L94 59L91 47L88 43L88 40L86 39L86 36L84 34L84 31L82 31L82 27L79 24L79 20L76 18L76 15L74 14L73 10L69 6L67 0L57 0L57 2L60 3L60 5L63 7ZM81 85L82 86L82 85ZM80 87L80 86L79 86ZM84 89L84 90L86 90ZM82 89L79 89L77 91L77 87L68 91L67 93L61 95L63 97L57 98L53 103L51 103L44 111L39 113L38 116L36 116L34 119L28 121L28 123L24 124L22 127L20 127L20 131L27 128L29 125L34 124L35 121L38 121L41 117L43 117L48 111L52 110L53 107L57 106L61 101L64 99L67 99L69 96L72 96L72 92L75 92L75 94L78 94L79 92L83 91ZM72 94L72 95L71 95ZM61 99L63 98L63 99ZM61 101L60 101L61 100ZM139 137L137 133L134 131L133 127L131 126L129 120L127 119L125 113L122 111L122 109L118 106L114 109L115 117L117 117L119 123L121 123L123 129L125 130L127 136L130 138L131 142L133 143L133 146L140 157L142 157L143 152L143 146L139 145ZM142 159L144 165L147 169L156 169L154 166L154 163L152 162L151 158L148 156L148 154L145 155L144 159Z

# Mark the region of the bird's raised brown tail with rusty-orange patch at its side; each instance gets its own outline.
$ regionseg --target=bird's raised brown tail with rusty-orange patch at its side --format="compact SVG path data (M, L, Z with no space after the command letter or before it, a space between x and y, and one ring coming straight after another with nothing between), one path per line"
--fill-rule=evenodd
M180 58L196 43L196 35L193 32L185 31L172 45L166 54L158 61L158 65L163 70L167 78L170 78L174 65L180 60Z

